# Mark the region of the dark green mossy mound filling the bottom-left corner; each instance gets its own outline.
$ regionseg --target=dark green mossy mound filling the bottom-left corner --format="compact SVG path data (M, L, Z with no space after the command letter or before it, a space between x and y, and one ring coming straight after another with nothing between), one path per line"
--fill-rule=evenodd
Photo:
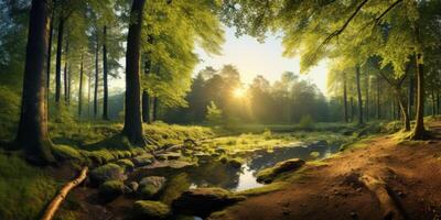
M58 186L45 170L0 153L0 219L37 219Z

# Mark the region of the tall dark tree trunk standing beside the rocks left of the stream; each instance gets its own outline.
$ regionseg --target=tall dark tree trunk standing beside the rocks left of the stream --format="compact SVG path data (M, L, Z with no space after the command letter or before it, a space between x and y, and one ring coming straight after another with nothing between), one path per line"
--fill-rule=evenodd
M141 121L140 53L146 0L133 0L126 52L126 113L122 134L135 145L146 145Z

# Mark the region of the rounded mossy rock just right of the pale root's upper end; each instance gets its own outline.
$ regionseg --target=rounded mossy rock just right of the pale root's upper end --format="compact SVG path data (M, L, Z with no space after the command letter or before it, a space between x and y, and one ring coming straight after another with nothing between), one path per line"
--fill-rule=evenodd
M90 180L100 185L107 180L123 180L126 179L123 168L116 164L106 164L90 172Z

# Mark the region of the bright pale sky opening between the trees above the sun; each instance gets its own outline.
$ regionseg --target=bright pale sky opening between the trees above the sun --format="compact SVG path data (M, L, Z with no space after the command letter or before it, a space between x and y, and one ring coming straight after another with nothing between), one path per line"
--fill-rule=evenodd
M270 82L278 80L283 72L300 75L300 58L283 57L282 52L281 38L278 36L270 35L261 44L251 36L237 38L234 29L226 29L226 42L220 56L209 56L202 50L196 50L202 61L196 66L195 74L206 66L219 69L223 65L232 64L239 70L245 84L250 84L257 75L262 75ZM327 65L325 62L312 68L308 75L301 75L301 78L318 85L326 95Z

